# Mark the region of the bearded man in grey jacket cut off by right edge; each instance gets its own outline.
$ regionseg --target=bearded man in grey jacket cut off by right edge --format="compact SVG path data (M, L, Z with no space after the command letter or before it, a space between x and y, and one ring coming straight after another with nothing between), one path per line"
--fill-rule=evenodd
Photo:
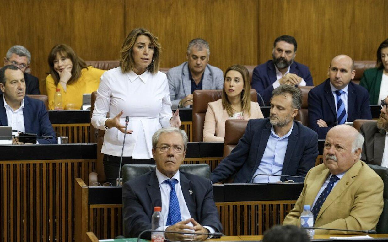
M365 142L361 160L367 164L388 167L388 97L381 100L381 111L376 122L365 122L360 128Z

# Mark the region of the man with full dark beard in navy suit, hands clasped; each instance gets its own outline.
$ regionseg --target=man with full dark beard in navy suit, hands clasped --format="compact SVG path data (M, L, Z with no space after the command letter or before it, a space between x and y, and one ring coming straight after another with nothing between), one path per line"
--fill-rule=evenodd
M275 39L272 60L258 65L253 70L252 87L268 105L272 91L280 85L314 86L310 70L296 61L298 47L293 36L282 35ZM263 105L260 97L260 105Z

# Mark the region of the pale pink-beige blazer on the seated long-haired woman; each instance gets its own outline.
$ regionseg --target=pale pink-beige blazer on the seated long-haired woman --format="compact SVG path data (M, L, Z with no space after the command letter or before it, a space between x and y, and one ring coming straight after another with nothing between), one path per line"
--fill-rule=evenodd
M251 102L251 115L244 113L244 119L264 118L257 102ZM226 109L222 107L222 99L208 103L203 127L203 141L223 142L225 137L225 121L229 119Z

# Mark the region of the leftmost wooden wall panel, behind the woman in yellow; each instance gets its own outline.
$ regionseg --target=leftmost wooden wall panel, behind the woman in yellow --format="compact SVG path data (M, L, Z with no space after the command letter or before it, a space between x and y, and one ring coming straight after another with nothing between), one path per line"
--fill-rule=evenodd
M70 45L85 60L112 60L124 38L123 0L9 0L0 8L0 57L12 45L31 52L33 75L40 90L49 66L47 57L58 43ZM0 62L3 66L3 62Z

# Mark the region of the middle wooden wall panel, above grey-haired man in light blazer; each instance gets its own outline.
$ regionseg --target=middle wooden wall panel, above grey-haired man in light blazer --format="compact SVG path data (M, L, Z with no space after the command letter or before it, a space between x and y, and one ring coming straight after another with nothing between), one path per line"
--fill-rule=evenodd
M162 67L186 61L190 40L210 45L210 61L223 71L232 64L258 62L257 0L125 0L125 33L148 28L159 37Z

